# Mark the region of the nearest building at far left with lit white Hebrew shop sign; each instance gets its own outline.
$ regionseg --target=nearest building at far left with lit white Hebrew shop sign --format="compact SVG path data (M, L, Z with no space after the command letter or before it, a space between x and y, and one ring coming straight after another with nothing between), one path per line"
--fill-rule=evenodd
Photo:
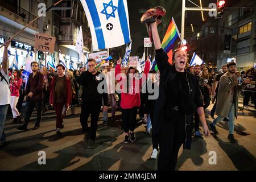
M0 1L0 44L3 44L7 39L9 39L9 37L15 35L16 32L38 16L39 3L45 3L46 6L51 6L52 0ZM25 64L27 50L32 51L35 60L39 61L38 51L34 48L36 33L52 35L51 11L49 11L45 17L36 20L11 41L11 56L9 63L14 59L15 50L18 55L19 68ZM2 51L3 49L1 49L0 59L2 59ZM43 58L44 57L42 57L42 59Z

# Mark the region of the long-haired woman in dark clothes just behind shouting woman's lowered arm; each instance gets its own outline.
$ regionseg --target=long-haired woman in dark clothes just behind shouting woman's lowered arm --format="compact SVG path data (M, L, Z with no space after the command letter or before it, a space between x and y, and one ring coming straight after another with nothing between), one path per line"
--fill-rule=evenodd
M204 68L201 73L201 77L204 78L204 110L210 105L210 95L212 94L208 73L208 68Z

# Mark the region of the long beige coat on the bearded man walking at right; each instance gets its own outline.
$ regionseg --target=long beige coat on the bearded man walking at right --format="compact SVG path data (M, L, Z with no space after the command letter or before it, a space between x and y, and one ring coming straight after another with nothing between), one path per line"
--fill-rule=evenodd
M221 76L218 88L216 114L220 117L228 117L232 107L233 98L235 103L236 118L238 111L238 94L246 86L245 83L238 85L237 76L226 72Z

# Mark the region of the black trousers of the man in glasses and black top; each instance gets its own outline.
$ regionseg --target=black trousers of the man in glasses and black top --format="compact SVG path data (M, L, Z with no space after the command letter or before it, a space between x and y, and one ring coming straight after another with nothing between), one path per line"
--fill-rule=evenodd
M98 128L98 117L101 111L101 102L82 102L80 123L82 131L89 133L90 139L96 138L96 131ZM90 115L90 129L88 127L88 118Z

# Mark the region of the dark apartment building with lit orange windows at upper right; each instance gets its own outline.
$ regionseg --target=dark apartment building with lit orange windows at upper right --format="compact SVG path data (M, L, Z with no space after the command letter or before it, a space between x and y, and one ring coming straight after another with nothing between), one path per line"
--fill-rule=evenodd
M256 60L256 1L245 0L224 9L218 24L217 67L236 59L237 70L253 67Z

